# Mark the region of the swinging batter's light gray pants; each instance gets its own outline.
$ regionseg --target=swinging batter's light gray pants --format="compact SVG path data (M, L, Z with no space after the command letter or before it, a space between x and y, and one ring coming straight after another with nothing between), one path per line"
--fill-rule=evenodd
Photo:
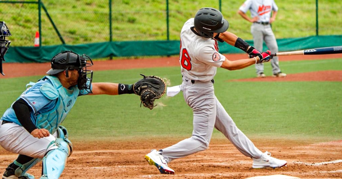
M222 132L242 154L259 159L262 152L237 128L216 98L211 81L195 81L192 84L189 79L184 78L181 88L185 101L193 109L193 134L190 138L160 150L167 161L171 162L206 150L214 127Z

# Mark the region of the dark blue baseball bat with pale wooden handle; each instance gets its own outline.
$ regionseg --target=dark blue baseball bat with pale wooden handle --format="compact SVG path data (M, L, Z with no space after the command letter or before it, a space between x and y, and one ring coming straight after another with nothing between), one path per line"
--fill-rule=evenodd
M284 56L284 55L322 55L322 54L342 54L342 46L312 48L306 50L286 51L279 53L271 53L271 56Z

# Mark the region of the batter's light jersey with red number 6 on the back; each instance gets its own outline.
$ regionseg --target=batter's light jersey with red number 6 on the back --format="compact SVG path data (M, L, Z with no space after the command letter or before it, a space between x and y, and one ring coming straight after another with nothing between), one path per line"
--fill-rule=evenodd
M181 31L181 73L191 80L210 81L226 57L219 53L216 40L196 35L191 27L194 18L187 20Z

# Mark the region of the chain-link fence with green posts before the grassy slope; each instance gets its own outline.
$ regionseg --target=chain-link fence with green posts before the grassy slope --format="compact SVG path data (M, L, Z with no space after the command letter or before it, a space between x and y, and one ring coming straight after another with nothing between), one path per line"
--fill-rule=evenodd
M202 7L213 7L220 9L229 21L228 31L249 40L251 24L237 14L242 3L244 0L0 1L0 21L5 21L11 30L11 46L33 46L36 31L41 32L43 46L179 40L187 19ZM277 38L342 34L340 1L276 0L276 3L279 11L272 26Z

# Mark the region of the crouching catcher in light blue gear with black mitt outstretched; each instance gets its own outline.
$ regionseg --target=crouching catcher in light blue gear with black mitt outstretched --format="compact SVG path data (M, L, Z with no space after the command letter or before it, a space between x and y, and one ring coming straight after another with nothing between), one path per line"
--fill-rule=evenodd
M92 83L92 60L73 51L62 51L51 60L47 76L30 82L0 120L0 145L19 154L8 165L3 179L34 179L27 173L42 161L41 179L59 178L67 157L73 152L67 129L61 125L78 96L135 93L141 103L153 109L165 92L165 83L156 76L144 76L132 85Z

